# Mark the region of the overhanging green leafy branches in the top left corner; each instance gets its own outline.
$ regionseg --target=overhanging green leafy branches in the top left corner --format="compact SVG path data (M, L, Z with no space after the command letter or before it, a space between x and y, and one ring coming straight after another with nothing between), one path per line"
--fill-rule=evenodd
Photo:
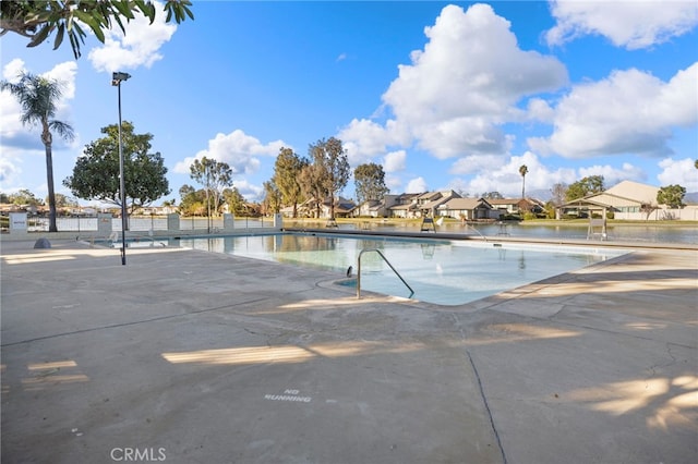
M163 12L167 12L166 22L172 19L179 24L189 16L194 19L189 0L168 0ZM155 3L149 0L37 0L0 2L0 36L8 32L16 33L29 39L27 47L36 47L52 33L53 50L58 49L68 35L75 59L80 58L80 45L85 42L87 25L95 37L104 44L105 30L119 26L125 34L123 20L130 22L135 15L155 21Z

